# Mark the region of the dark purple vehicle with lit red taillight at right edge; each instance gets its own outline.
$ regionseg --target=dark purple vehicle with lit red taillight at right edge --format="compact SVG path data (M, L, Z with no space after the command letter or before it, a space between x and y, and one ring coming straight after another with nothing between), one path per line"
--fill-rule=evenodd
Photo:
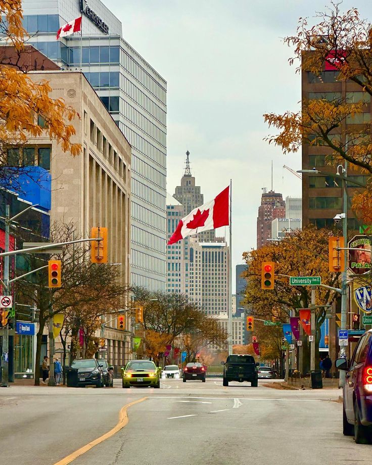
M345 358L338 358L336 367L347 372L343 388L343 433L354 435L357 444L368 444L372 441L372 330L359 339L350 364Z

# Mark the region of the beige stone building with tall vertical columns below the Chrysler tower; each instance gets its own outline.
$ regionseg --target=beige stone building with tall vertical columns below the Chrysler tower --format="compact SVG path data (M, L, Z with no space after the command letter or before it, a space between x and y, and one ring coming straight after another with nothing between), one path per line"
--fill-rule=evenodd
M124 283L129 283L130 261L130 171L131 147L95 90L81 72L36 71L34 80L46 79L51 97L63 98L80 115L72 121L82 153L72 157L55 140L44 137L30 140L35 164L52 175L53 221L73 222L79 234L88 238L92 226L108 228L108 262L121 265ZM107 317L107 321L112 315ZM116 366L131 358L129 331L116 328L116 321L105 329L107 358Z

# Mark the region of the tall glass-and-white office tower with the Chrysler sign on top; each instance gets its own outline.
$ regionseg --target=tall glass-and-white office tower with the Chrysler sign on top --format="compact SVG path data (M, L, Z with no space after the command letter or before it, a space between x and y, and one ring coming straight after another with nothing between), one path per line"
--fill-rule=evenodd
M166 81L123 39L121 22L100 0L23 0L22 7L28 42L62 68L82 69L131 145L130 282L165 290ZM56 40L80 15L82 37Z

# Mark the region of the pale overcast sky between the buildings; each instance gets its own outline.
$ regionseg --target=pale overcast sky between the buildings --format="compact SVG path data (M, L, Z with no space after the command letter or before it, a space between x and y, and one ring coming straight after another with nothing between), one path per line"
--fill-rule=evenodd
M301 168L263 138L263 113L296 110L300 77L283 37L299 17L324 11L326 0L103 0L123 36L168 82L167 191L174 193L185 152L205 201L232 179L232 265L256 247L261 189L301 196ZM372 2L345 0L372 20ZM234 285L235 288L235 285Z

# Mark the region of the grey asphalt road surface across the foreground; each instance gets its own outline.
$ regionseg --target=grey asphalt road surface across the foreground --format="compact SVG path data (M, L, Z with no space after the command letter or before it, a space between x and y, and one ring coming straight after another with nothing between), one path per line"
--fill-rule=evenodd
M267 383L267 382L265 382ZM54 465L129 423L73 465L321 465L370 463L372 445L342 435L341 391L284 391L166 380L161 389L0 389L0 465Z

